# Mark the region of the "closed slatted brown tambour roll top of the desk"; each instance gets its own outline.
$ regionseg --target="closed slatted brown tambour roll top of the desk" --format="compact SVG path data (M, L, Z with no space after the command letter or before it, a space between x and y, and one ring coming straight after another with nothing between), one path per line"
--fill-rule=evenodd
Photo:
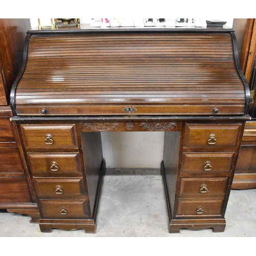
M78 33L30 37L19 115L242 115L229 33Z

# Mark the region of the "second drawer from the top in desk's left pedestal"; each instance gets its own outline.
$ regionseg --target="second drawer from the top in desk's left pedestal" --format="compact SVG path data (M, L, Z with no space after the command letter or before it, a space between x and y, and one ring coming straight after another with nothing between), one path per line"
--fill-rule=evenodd
M79 153L28 153L34 177L81 176Z

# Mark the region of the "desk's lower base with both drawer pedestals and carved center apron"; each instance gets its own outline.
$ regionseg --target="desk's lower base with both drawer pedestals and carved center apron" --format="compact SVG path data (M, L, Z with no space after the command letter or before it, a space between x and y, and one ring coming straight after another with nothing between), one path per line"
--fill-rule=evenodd
M169 232L224 231L244 122L185 118L17 119L42 232L96 232L105 172L101 132L161 131ZM115 184L113 184L114 186Z

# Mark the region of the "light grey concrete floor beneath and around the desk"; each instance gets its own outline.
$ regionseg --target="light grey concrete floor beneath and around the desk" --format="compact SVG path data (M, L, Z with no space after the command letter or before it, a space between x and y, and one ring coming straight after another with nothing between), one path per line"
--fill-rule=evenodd
M0 212L0 237L256 237L256 189L231 190L226 229L168 233L164 190L159 169L107 169L103 181L97 233L82 229L40 232L30 217Z

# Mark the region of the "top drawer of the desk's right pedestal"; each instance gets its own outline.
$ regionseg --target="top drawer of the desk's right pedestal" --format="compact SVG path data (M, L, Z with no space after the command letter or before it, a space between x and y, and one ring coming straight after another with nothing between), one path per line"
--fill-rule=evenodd
M241 124L187 124L183 147L232 148L237 147Z

